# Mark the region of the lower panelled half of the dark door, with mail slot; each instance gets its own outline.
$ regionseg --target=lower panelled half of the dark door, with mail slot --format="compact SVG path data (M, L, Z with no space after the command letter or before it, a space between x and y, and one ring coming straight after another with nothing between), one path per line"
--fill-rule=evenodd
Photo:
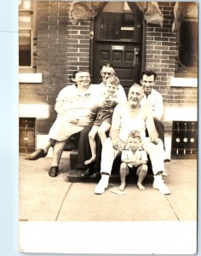
M135 55L135 49L139 49L138 55ZM109 62L114 66L121 84L127 90L134 82L139 83L141 73L140 44L96 43L94 52L93 83L101 82L100 69L106 62Z

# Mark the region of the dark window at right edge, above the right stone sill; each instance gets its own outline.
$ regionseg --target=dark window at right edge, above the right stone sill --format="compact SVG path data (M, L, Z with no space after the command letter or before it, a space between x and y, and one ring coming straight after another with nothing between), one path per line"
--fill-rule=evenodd
M181 17L177 32L178 55L176 77L198 76L198 5L185 3L186 13ZM188 4L188 5L187 5Z

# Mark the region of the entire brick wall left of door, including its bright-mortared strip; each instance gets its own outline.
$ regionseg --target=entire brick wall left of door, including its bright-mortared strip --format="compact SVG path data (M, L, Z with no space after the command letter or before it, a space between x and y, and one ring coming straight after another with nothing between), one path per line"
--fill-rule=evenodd
M90 22L72 25L71 2L37 1L37 73L42 84L20 84L20 103L49 104L49 119L37 119L37 134L47 134L55 120L55 98L78 69L89 70Z

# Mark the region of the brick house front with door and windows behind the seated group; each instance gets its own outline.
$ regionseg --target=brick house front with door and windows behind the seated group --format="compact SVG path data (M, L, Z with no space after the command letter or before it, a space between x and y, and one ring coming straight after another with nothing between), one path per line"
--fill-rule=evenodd
M99 83L101 65L112 62L126 91L139 82L143 68L158 74L156 90L164 97L166 146L170 148L173 141L172 148L179 146L183 151L187 146L188 154L195 155L197 4L87 3L78 8L70 1L24 0L19 6L20 152L32 151L47 137L56 117L55 98L71 84L72 72L89 70L93 83ZM80 9L85 16L75 20ZM155 21L150 19L155 17L152 11ZM187 144L181 143L184 137Z

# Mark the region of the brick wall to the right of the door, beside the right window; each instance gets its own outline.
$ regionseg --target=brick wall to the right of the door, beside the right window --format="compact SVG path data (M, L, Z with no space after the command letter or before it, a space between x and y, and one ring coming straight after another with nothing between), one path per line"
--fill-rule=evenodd
M164 15L163 27L146 26L146 68L157 74L156 90L164 97L164 107L197 106L198 91L191 87L170 87L175 77L176 33L172 32L174 2L159 2ZM171 122L164 122L165 131L171 132Z

